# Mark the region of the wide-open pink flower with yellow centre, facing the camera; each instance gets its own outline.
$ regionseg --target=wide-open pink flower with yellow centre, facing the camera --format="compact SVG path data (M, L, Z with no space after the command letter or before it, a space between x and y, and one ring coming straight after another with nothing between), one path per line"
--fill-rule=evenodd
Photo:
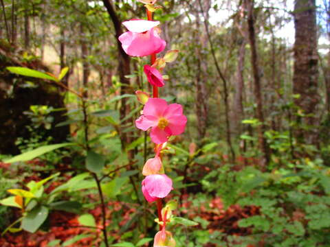
M186 123L187 118L180 104L168 105L165 99L149 98L135 126L144 131L151 128L151 141L160 144L165 143L171 135L182 134Z

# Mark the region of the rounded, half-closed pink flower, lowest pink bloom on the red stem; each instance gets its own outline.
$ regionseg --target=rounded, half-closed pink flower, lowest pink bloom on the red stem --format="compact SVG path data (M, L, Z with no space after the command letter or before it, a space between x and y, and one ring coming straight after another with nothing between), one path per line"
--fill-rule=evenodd
M148 202L166 197L172 189L172 180L165 174L149 175L142 180L142 193Z

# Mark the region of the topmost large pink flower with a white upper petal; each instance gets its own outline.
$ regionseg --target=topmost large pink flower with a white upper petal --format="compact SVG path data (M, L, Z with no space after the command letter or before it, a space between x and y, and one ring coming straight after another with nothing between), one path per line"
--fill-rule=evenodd
M148 56L159 53L166 46L154 28L159 21L131 20L122 23L129 32L119 36L122 49L129 56Z

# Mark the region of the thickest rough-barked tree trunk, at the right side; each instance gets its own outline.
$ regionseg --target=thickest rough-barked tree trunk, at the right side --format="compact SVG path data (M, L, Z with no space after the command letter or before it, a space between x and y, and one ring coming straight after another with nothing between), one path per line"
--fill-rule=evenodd
M318 54L315 0L296 0L294 5L294 94L299 94L296 105L309 117L298 119L311 126L308 132L296 131L296 137L307 143L317 143L318 117L315 115L320 96L318 95Z

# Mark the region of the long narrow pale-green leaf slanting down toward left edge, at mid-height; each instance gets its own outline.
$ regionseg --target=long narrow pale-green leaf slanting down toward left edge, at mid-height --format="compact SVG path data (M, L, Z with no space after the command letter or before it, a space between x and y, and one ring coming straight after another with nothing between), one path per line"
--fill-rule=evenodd
M23 154L19 154L17 156L9 158L8 160L5 160L4 162L5 163L15 163L15 162L19 162L19 161L31 161L32 159L39 157L43 154L46 154L47 152L51 152L58 148L67 147L69 145L76 145L76 144L75 143L60 143L60 144L53 144L53 145L44 145L40 148L36 148L35 150L31 150L31 151L25 152Z

